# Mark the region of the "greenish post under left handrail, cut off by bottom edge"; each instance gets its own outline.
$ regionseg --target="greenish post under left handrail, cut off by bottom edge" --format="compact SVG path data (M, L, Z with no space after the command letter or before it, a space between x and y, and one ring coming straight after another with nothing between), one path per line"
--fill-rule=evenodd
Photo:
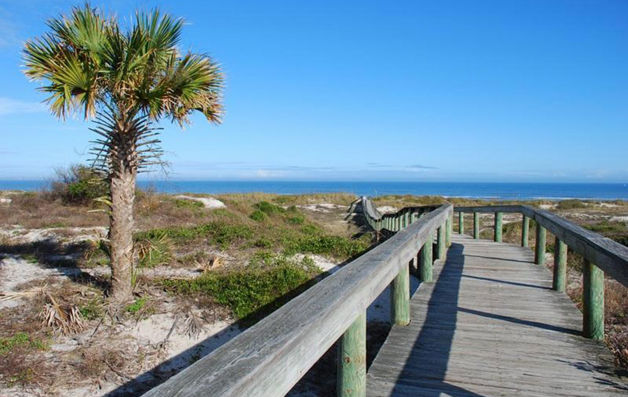
M338 397L366 397L366 311L338 343Z

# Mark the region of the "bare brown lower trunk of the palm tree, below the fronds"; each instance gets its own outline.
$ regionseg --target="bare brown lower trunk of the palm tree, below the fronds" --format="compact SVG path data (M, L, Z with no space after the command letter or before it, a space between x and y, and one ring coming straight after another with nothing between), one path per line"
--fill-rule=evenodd
M133 167L131 167L133 168ZM112 297L119 303L133 299L133 202L137 170L124 167L111 176Z

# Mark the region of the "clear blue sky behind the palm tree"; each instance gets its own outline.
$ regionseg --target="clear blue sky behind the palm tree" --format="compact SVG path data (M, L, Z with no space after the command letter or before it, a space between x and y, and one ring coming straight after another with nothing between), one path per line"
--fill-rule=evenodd
M24 40L77 1L0 0L0 180L87 159ZM164 123L170 178L626 182L628 1L92 1L183 17L224 123ZM144 178L163 178L153 173Z

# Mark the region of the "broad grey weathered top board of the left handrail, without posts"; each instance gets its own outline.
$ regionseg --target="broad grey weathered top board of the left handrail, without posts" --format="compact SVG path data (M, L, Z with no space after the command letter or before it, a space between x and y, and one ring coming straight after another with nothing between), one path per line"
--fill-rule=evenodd
M284 396L452 213L429 212L144 396Z

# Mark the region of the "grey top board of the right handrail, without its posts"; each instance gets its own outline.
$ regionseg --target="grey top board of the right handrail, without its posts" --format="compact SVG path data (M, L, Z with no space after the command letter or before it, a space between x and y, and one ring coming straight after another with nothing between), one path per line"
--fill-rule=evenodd
M574 224L552 212L531 205L482 205L454 207L455 212L521 212L534 219L558 240L628 287L628 247Z

